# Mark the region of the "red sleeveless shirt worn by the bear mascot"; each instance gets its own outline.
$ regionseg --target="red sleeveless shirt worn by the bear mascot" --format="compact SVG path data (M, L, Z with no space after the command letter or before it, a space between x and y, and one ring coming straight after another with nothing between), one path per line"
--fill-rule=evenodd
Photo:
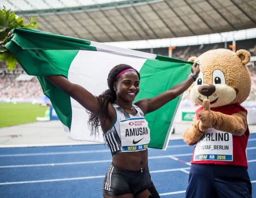
M198 117L198 112L200 112L202 110L203 110L203 107L198 108L198 110L196 111L197 120L200 120L200 118ZM239 103L236 103L234 105L224 106L221 108L211 108L211 111L221 112L226 115L232 115L239 111L244 111L247 113L245 108L240 106ZM235 165L235 166L245 166L246 168L248 168L247 159L246 159L246 146L247 146L249 133L250 133L248 126L247 126L247 130L245 132L246 137L231 135L231 133L227 133L227 132L225 132L225 133L220 132L220 133L222 133L222 136L223 136L223 134L226 135L227 139L229 138L228 136L231 137L230 138L231 146L229 147L229 146L214 145L214 143L216 143L216 142L212 142L212 141L216 141L216 140L214 140L215 136L217 137L217 135L218 135L216 133L207 134L208 135L208 138L207 138L208 145L199 146L198 142L206 140L206 137L205 137L206 134L205 134L201 138L201 140L197 142L197 145L195 146L191 164ZM214 136L214 137L212 137L212 136ZM220 142L220 144L221 144L222 140L223 140L223 138L219 138L218 141ZM213 145L211 145L211 142L213 143ZM217 153L217 152L223 152L223 151L221 151L221 149L225 150L226 148L233 149L233 152L232 152L232 149L229 149L230 151L225 151L225 152L231 152L231 155L221 155L221 154ZM202 151L202 149L204 151ZM200 151L198 151L198 150L200 150ZM206 150L208 150L208 151L206 151ZM210 154L211 152L216 152L215 153L216 155L196 155L195 152L196 152L196 154L197 154L197 152L201 152L201 153L206 152L206 154ZM194 156L195 156L195 159L194 159Z

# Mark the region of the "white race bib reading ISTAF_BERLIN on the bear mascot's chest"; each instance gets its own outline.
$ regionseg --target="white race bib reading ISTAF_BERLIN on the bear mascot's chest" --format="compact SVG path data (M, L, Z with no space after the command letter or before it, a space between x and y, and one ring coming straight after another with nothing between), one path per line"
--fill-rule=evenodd
M197 142L193 161L233 161L233 136L231 133L209 128Z

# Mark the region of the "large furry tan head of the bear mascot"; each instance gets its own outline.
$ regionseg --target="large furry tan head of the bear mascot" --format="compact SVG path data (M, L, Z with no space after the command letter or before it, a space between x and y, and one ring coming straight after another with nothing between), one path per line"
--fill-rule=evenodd
M239 50L236 53L226 49L210 50L188 61L200 65L200 74L190 88L192 101L202 105L210 100L210 107L221 107L242 103L250 93L250 73L246 63L250 53Z

